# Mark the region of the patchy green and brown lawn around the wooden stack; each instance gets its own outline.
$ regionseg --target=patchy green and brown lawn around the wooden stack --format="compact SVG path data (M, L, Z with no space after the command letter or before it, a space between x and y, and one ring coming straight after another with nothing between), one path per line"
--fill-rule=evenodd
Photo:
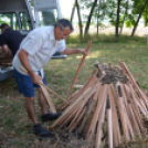
M86 43L68 43L68 47L85 49ZM67 59L52 60L44 66L46 82L50 88L55 91L62 97L66 98L72 81L75 76L82 55L70 55ZM84 66L77 80L77 84L85 84L94 70L94 63L112 63L117 65L121 60L126 63L140 87L148 92L148 46L146 42L126 41L126 42L94 42L91 52L85 60ZM51 97L57 106L62 101ZM35 112L40 119L40 107L35 99ZM50 123L51 124L51 123ZM47 125L44 124L47 128ZM60 134L61 135L61 134ZM39 140L32 134L32 123L28 119L24 109L24 99L17 91L14 78L0 83L0 148L76 148L75 141L70 141L70 136L63 131L62 141L57 131L53 131L50 139ZM82 141L82 144L85 141ZM148 138L130 142L127 146L133 148L144 148L148 145Z

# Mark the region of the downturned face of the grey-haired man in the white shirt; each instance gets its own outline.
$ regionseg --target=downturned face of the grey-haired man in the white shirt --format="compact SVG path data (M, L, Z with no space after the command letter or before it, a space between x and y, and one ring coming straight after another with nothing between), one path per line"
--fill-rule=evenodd
M67 27L67 28L65 28L65 30L61 30L61 28L60 27L56 27L55 29L54 29L54 35L55 35L55 39L59 41L59 40L62 40L62 39L66 39L67 38L67 35L70 35L70 33L71 33L71 30L70 30L70 28Z

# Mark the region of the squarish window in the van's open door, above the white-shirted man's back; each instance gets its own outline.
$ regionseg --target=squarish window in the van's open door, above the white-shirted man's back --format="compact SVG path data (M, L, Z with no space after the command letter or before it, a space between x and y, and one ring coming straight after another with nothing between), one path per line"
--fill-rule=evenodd
M44 9L40 10L39 12L39 19L41 27L44 25L54 25L57 21L57 11L56 9Z

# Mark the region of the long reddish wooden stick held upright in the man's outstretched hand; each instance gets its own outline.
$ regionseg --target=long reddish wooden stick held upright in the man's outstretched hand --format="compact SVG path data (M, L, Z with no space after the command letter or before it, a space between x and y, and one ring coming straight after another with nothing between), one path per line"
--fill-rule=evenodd
M92 41L89 41L89 42L87 43L87 46L86 46L86 49L85 49L86 52L89 51L91 44L92 44ZM70 99L70 96L71 96L71 94L72 94L72 92L73 92L73 87L74 87L74 85L75 85L75 83L76 83L76 81L77 81L77 77L78 77L78 74L80 74L80 72L81 72L81 70L82 70L82 66L83 66L83 64L84 64L85 57L86 57L86 55L83 55L83 59L82 59L82 61L81 61L81 63L80 63L80 65L78 65L76 75L75 75L75 77L74 77L74 80L73 80L73 83L72 83L72 85L71 85L67 99Z

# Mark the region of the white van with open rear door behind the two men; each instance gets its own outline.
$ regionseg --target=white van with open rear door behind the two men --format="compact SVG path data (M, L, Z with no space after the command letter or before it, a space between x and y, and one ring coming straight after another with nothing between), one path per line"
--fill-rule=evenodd
M31 2L29 0L0 0L0 24L8 23L25 36L34 28L54 25L55 21L61 19L59 0L33 0L33 8ZM11 61L11 59L6 60L0 54L0 81L13 76L12 66L3 65L3 61Z

